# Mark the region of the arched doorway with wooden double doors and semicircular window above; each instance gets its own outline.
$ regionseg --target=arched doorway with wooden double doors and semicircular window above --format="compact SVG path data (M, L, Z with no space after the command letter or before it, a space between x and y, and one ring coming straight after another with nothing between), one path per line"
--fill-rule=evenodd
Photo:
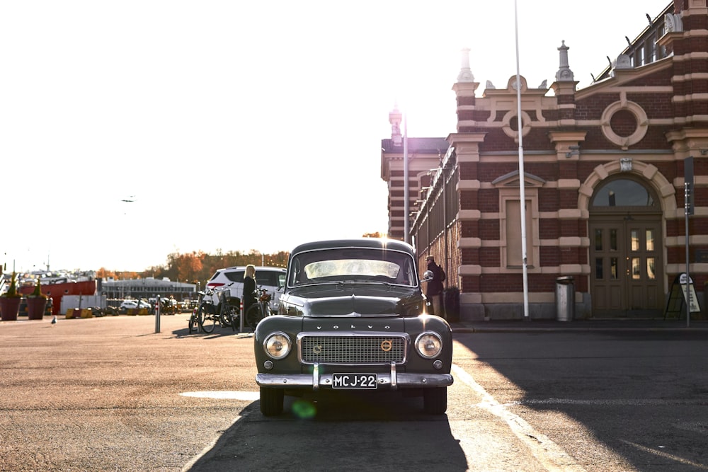
M593 317L663 313L663 237L656 193L639 178L608 178L590 200Z

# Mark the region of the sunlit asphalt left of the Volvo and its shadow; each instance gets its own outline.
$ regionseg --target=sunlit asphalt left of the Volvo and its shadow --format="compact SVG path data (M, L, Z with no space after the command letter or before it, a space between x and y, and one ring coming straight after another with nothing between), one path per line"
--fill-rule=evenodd
M185 393L255 391L253 339L154 319L0 323L0 470L180 471L227 430L257 396Z

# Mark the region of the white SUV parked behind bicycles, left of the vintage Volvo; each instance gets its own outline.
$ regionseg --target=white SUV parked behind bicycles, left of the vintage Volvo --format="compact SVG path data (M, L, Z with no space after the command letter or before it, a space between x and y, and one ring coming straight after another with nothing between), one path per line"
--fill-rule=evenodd
M239 300L244 296L244 274L246 273L245 266L226 267L219 269L212 275L212 278L207 282L207 288L212 290L231 289L229 297L235 297ZM278 300L282 287L285 285L285 269L283 267L256 267L256 289L262 288L270 294L271 309L278 308ZM278 289L281 289L278 292ZM219 297L212 295L212 302L215 306L219 305Z

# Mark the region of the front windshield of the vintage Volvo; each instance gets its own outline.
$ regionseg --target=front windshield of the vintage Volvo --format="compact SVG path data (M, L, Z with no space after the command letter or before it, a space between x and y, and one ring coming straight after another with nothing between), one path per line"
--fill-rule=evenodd
M385 282L416 287L411 255L381 248L331 248L292 258L288 286L323 282Z

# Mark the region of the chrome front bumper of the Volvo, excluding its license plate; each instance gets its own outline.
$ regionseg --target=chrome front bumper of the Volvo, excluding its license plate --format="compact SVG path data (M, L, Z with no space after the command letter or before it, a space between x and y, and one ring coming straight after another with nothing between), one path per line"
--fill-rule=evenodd
M452 374L408 374L397 373L396 366L391 371L377 374L377 388L396 390L412 387L446 387L452 385ZM272 388L332 388L332 374L320 374L319 365L313 366L311 374L256 374L256 384Z

